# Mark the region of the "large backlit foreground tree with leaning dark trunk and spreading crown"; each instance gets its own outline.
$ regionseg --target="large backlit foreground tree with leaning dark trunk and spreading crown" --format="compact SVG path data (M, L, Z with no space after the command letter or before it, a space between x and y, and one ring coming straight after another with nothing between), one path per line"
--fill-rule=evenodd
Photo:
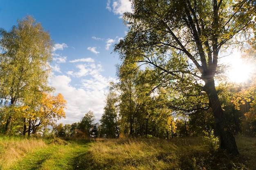
M220 105L214 77L221 50L223 52L231 44L245 40L255 28L253 2L130 1L133 12L124 15L129 31L115 46L115 51L123 60L146 63L161 70L161 80L165 84L169 80L169 86L185 85L195 87L202 95L205 92L220 134L221 148L238 154L234 135Z

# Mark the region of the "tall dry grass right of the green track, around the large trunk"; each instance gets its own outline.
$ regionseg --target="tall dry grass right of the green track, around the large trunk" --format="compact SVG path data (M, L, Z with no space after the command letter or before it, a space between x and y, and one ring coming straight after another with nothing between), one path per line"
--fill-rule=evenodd
M96 141L84 155L87 169L122 170L254 170L255 138L239 137L238 157L212 152L201 138L106 139ZM247 144L246 144L247 143ZM244 151L242 151L244 150ZM248 152L249 151L249 152ZM246 156L246 157L245 157ZM248 159L249 158L249 159Z

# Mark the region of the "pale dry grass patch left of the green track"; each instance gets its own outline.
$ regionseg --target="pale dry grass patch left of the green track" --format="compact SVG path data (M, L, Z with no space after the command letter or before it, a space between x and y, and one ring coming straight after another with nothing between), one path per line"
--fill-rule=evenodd
M6 169L25 154L47 145L42 139L0 136L0 169Z

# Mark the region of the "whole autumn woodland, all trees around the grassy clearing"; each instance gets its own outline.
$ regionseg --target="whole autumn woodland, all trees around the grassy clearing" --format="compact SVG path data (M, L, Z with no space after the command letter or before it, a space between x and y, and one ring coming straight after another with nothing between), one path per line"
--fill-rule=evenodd
M239 155L236 136L256 137L256 72L233 83L218 61L239 49L255 64L255 1L131 2L133 11L123 16L129 31L114 46L121 60L118 82L109 84L99 122L89 111L80 122L56 123L65 118L67 102L51 95L54 42L40 23L26 16L10 31L0 29L1 135L130 143L202 139L213 153Z

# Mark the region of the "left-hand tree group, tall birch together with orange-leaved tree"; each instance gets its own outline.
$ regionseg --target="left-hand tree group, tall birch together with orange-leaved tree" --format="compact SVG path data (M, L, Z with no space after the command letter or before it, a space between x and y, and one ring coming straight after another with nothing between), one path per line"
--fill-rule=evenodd
M31 16L0 29L0 132L42 134L65 117L67 102L48 85L52 48L49 32Z

